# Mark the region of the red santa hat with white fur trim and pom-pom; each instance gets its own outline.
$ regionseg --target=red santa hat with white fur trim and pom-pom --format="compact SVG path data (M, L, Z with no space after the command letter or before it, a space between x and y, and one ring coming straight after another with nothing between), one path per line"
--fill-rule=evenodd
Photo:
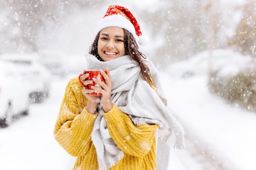
M103 19L101 19L95 30L96 35L104 28L109 26L118 26L124 28L134 36L138 44L144 46L148 38L142 36L139 24L129 9L118 5L111 5L108 8Z

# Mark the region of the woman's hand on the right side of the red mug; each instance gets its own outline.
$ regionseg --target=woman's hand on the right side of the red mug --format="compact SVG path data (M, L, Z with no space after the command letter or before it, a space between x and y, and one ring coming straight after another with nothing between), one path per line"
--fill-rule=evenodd
M106 67L106 73L103 71L103 70L100 70L101 72L101 75L104 77L105 79L105 83L104 82L101 82L100 80L98 79L95 79L93 78L92 80L99 84L101 88L98 88L98 87L95 87L93 86L92 88L95 90L95 91L98 91L99 93L102 94L101 96L101 99L100 99L100 104L104 110L104 112L108 112L112 109L113 107L113 104L110 100L110 96L111 96L111 75L110 75L110 71L108 69L108 67Z

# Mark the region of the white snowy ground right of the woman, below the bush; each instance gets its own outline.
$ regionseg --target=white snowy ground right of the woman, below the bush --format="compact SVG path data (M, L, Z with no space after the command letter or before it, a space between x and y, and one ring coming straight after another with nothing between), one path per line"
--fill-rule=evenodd
M256 114L227 104L207 90L204 75L162 76L169 107L189 132L235 170L255 170Z

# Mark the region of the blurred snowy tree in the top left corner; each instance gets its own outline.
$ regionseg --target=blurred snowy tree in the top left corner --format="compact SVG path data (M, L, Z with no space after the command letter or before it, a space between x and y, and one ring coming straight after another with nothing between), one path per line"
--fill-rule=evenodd
M58 32L67 14L99 1L0 0L0 53L37 52Z

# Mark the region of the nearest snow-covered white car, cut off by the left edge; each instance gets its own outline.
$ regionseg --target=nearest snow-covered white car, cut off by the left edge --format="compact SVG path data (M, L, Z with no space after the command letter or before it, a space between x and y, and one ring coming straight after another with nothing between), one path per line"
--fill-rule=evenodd
M15 64L0 61L0 126L29 113L29 88Z

